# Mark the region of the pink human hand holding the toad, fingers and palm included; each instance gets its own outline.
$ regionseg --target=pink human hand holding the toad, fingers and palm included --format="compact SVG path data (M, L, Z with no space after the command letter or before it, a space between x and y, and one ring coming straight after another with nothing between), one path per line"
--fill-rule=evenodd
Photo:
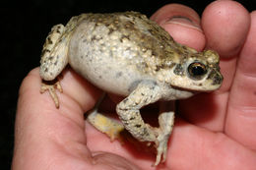
M234 1L215 1L200 19L192 9L170 4L152 20L180 43L217 50L224 75L218 91L178 103L179 115L160 169L255 169L256 12L249 14ZM59 109L47 92L39 93L38 68L25 78L18 102L13 170L159 168L151 166L154 154L110 142L85 124L84 113L93 108L101 91L71 69L62 75Z

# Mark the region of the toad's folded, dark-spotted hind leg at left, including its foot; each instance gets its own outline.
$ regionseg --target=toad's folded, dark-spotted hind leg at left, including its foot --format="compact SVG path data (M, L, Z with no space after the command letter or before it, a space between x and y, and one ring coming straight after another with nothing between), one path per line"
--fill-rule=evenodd
M55 106L59 107L59 100L55 89L62 92L57 76L68 64L68 37L65 27L56 25L51 28L43 45L40 61L40 77L43 80L40 92L48 90Z

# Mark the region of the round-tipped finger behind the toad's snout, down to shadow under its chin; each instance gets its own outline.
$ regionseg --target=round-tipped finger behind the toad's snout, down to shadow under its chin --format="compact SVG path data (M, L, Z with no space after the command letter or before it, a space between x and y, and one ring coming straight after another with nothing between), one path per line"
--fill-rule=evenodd
M200 94L181 102L187 106L182 107L181 112L189 122L212 131L224 131L226 105L236 69L236 56L244 43L249 21L248 12L234 1L215 1L204 11L202 28L207 38L206 45L220 53L224 83L217 92L210 95Z

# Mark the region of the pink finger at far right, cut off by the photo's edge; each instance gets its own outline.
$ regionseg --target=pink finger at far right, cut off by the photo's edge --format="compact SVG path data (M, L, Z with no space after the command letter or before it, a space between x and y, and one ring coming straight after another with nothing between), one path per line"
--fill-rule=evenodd
M256 11L240 52L231 86L225 132L238 142L256 149Z

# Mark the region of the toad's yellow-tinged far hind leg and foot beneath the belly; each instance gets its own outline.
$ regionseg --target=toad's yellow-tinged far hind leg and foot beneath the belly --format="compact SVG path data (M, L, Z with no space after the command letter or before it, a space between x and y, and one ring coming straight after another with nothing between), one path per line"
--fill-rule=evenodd
M111 142L114 140L119 140L122 142L121 132L124 131L124 127L121 123L108 118L97 112L97 109L104 98L104 94L100 97L100 99L96 102L96 105L93 110L91 110L88 114L87 120L101 133L106 134Z

